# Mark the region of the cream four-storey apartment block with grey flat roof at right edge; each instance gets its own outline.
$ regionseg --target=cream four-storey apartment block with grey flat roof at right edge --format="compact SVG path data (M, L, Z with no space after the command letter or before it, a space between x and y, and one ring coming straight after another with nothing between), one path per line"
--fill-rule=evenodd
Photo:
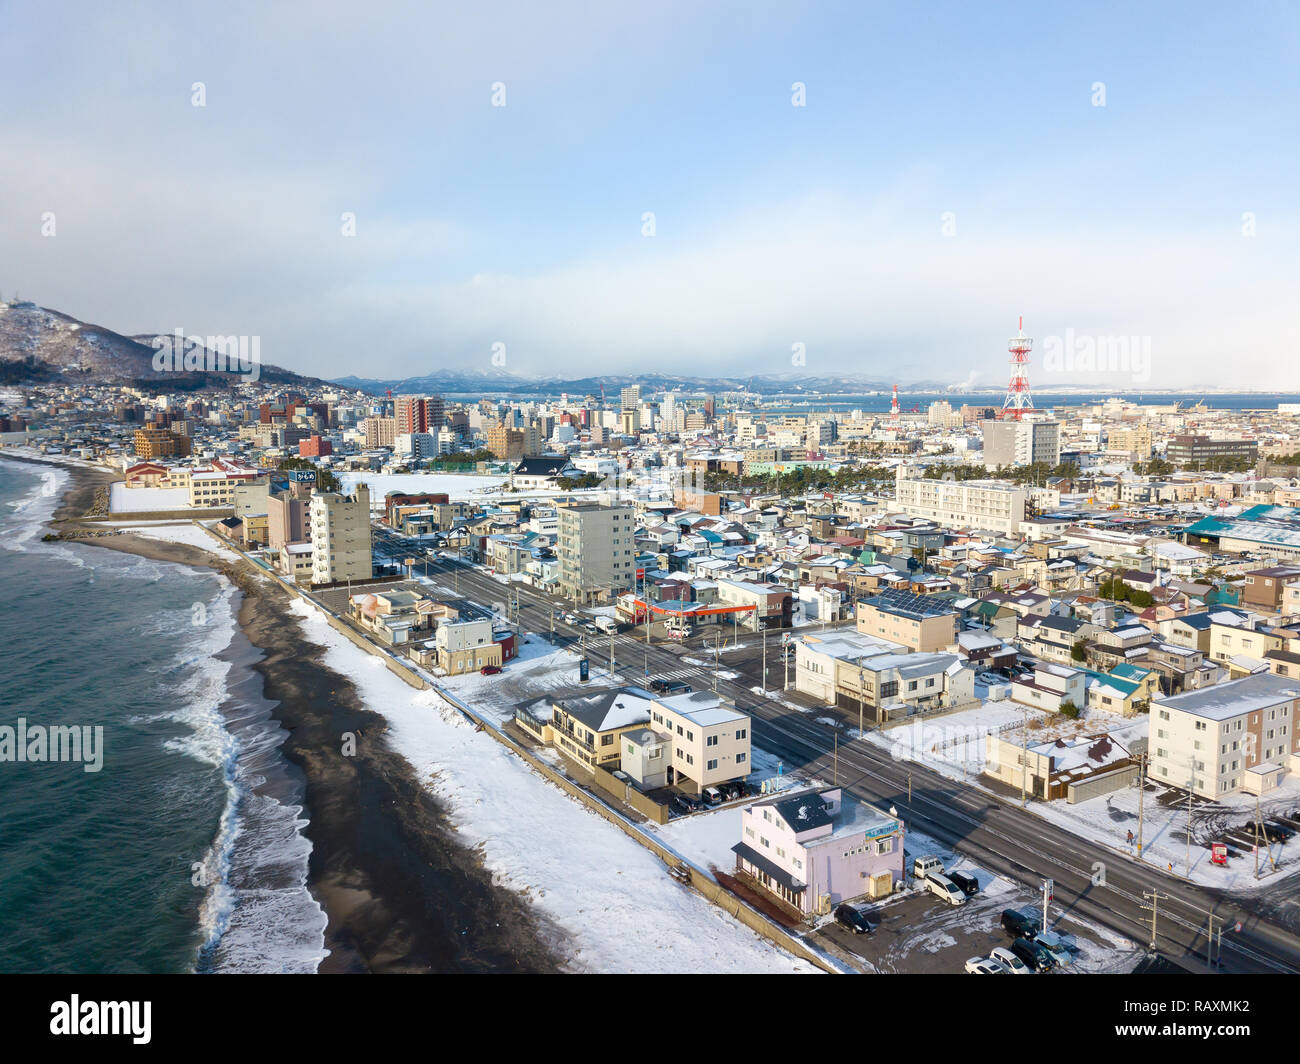
M1217 799L1264 793L1300 771L1300 680L1256 672L1153 698L1150 777Z

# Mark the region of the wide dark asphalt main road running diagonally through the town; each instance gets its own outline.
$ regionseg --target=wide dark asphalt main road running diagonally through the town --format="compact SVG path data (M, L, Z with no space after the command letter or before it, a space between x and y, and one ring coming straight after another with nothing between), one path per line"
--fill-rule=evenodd
M395 561L424 557L421 548L380 527L376 527L376 553ZM422 565L416 567L417 574L422 571ZM585 640L593 666L608 662L607 637L595 639L566 624L555 615L563 605L534 588L524 584L507 588L468 563L441 557L429 559L428 572L445 587L459 587L463 596L478 604L503 602L514 593L520 627L546 633L554 624L556 636ZM1044 878L1053 879L1056 911L1072 912L1147 943L1152 934L1150 895L1158 892L1156 946L1166 956L1204 966L1206 922L1213 912L1216 929L1221 924L1228 929L1222 937L1222 970L1300 972L1295 904L1282 904L1268 895L1228 896L1186 882L1071 835L1032 809L963 787L919 764L894 761L871 743L844 741L836 748L837 728L751 691L758 684L757 672L748 683L715 678L712 669L690 665L681 652L680 644L647 645L644 636L632 635L616 637L614 649L618 672L629 683L642 683L649 667L654 676L689 678L697 689L716 689L733 698L754 718L753 741L780 757L789 769L823 779L837 778L854 796L884 809L894 806L910 827L1030 888L1039 888ZM705 644L698 654L710 652ZM780 669L779 657L768 657L770 670ZM723 669L736 667L737 663L724 658ZM1240 931L1232 930L1238 922Z

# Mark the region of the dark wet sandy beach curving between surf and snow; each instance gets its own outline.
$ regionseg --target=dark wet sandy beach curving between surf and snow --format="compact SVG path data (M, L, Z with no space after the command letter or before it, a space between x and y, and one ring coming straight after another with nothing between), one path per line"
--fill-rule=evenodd
M70 480L51 528L81 539L96 490L114 477L64 468ZM186 544L130 533L82 541L216 570L238 588L239 626L263 654L252 669L289 732L283 754L306 782L309 888L328 918L321 972L560 969L563 931L494 884L478 855L459 843L445 810L385 743L384 719L303 640L276 584ZM346 735L355 736L355 752L344 753Z

